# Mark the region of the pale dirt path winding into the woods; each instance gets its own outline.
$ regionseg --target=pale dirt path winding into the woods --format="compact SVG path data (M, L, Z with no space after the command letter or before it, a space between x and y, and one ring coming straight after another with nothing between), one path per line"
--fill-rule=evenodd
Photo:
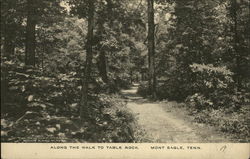
M139 125L154 142L228 142L223 134L212 127L193 123L184 108L176 102L151 102L136 95L137 86L123 90L127 107L138 115Z

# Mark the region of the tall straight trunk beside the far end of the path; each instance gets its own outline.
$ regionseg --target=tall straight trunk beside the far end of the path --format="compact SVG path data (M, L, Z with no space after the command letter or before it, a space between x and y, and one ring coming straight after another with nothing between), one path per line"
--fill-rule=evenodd
M154 0L148 0L148 63L149 63L149 91L156 98L155 76L155 24L154 24Z

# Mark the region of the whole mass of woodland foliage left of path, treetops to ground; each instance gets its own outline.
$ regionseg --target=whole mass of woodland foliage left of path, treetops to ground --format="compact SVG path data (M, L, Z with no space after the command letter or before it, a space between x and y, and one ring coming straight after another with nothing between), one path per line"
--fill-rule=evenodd
M129 28L122 24L133 12L125 2L110 1L114 7L111 10L110 4L96 3L97 27L88 86L90 114L79 118L88 45L84 3L87 1L1 1L2 141L143 140L144 132L136 124L135 115L121 97L114 95L136 79L133 70L137 69L141 49L133 36L139 23L128 23Z

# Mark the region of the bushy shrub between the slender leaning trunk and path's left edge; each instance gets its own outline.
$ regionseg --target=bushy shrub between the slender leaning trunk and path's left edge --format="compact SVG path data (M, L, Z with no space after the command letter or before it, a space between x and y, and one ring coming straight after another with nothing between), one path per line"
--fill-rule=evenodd
M90 142L134 142L135 118L117 95L100 94L91 102L89 120L95 124Z

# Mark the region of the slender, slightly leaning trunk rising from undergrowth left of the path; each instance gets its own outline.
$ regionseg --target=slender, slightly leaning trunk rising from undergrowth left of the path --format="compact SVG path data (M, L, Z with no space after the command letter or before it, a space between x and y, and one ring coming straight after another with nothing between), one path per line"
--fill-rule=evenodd
M83 89L82 98L80 103L80 117L81 120L89 117L89 105L88 105L88 92L89 82L91 80L91 67L92 67L92 46L93 46L93 34L94 34L94 12L95 4L94 0L88 0L88 33L87 33L87 44L86 44L86 63L83 78Z

